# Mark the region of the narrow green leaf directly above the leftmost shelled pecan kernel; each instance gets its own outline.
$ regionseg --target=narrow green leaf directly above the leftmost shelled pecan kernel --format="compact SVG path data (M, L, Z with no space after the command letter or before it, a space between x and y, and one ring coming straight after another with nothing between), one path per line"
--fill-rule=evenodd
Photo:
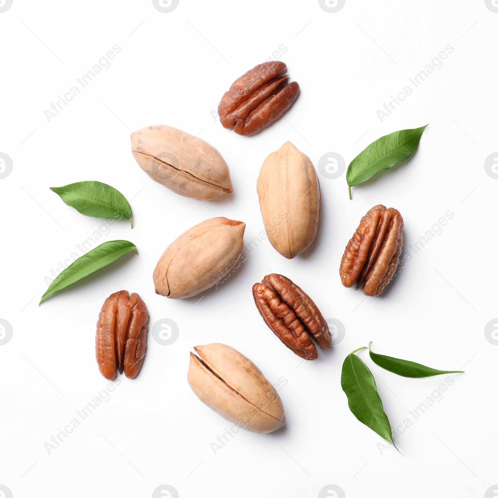
M47 291L41 296L40 302L44 301L48 296L66 288L83 277L90 275L94 271L102 268L103 266L116 261L121 256L130 250L136 250L134 244L128 241L109 241L104 242L95 249L88 251L83 256L72 262L66 269L62 270L53 280L48 287ZM138 254L138 251L136 250Z

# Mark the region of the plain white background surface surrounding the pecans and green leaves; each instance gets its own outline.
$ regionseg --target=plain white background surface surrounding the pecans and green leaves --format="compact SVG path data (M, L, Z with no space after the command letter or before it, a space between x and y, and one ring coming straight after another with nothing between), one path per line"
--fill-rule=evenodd
M0 318L13 329L0 346L0 484L14 498L150 497L164 484L181 498L336 496L328 485L348 498L484 497L498 482L498 346L484 334L498 316L498 181L484 168L498 150L497 23L482 0L346 0L337 13L317 1L180 0L161 13L146 0L13 0L0 13L0 152L13 163L0 180ZM44 111L115 44L122 51L111 67L48 122ZM380 122L377 109L448 44L454 51L443 67ZM223 93L269 57L287 64L299 98L253 137L224 129L212 112ZM226 216L246 222L246 246L258 236L256 178L285 141L315 167L327 152L347 165L379 136L427 123L413 158L353 189L353 200L345 173L319 173L318 235L300 256L286 260L265 240L200 301L154 293L157 259L193 225ZM202 203L150 180L129 143L130 131L149 124L215 146L230 166L233 195ZM49 190L82 180L109 183L130 200L133 230L118 222L100 242L130 240L140 253L38 307L44 277L102 224ZM361 217L378 203L401 212L404 249L447 211L454 217L380 297L365 300L342 286L338 269ZM344 324L345 339L317 361L301 364L262 322L251 286L270 270ZM123 375L111 399L48 454L44 443L108 384L95 361L95 324L120 288L140 294L151 326L174 320L179 338L161 346L149 334L138 377ZM341 389L344 358L371 340L378 353L465 366L400 437L404 456L377 444ZM241 431L216 455L210 444L230 425L186 379L189 350L211 342L241 351L272 383L287 380L286 426L269 435ZM360 357L393 427L444 381L399 377Z

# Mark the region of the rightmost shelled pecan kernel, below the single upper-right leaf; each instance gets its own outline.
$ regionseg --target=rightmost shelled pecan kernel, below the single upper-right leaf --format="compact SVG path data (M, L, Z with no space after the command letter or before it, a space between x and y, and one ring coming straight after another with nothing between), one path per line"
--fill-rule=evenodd
M349 241L339 273L344 286L378 296L394 276L403 247L403 218L394 208L374 206Z

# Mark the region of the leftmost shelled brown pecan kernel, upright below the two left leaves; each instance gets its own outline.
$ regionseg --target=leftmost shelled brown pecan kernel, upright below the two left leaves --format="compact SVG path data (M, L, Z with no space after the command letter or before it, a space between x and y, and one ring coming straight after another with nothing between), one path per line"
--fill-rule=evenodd
M99 314L95 356L104 377L113 380L116 368L128 378L136 376L147 348L149 313L140 296L121 290L111 294Z

